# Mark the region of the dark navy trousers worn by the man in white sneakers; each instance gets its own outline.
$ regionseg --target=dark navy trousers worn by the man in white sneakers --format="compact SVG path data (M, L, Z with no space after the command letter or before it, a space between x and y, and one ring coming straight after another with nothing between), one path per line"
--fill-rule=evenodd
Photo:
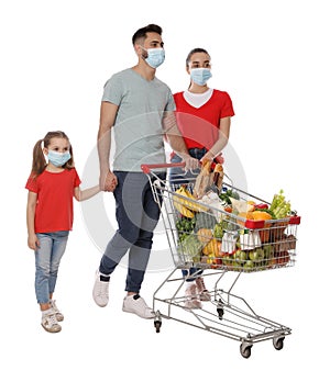
M118 229L108 243L99 271L102 274L111 274L129 251L125 291L139 293L161 209L154 200L146 175L127 171L114 171L114 175L118 179L118 186L113 191ZM160 173L158 177L165 180L166 172Z

